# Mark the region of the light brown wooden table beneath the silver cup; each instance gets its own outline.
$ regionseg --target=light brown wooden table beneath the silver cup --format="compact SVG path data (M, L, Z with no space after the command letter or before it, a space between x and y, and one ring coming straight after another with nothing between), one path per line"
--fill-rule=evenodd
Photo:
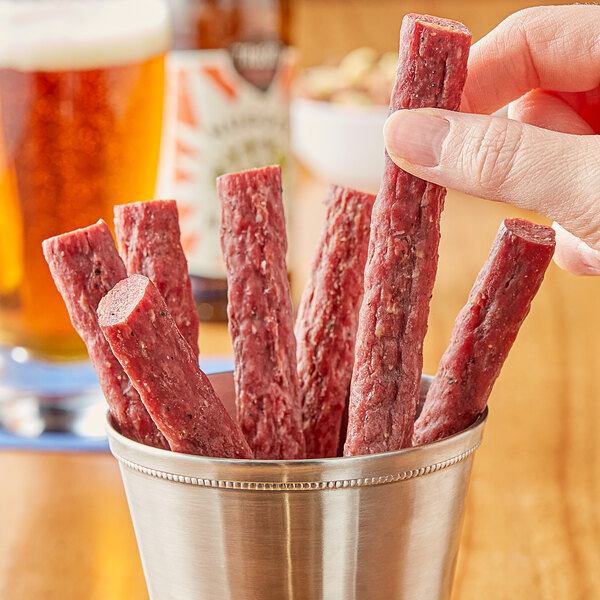
M301 174L291 243L296 296L323 191ZM515 214L523 213L448 194L426 371L436 368L501 219ZM456 600L600 598L598 298L600 278L550 267L490 400ZM203 326L201 345L227 352L224 326ZM0 481L2 600L147 598L111 456L4 451Z

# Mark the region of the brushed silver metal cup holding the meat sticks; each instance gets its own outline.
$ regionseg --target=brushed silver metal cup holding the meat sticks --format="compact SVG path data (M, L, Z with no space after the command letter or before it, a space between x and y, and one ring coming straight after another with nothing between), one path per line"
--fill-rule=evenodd
M211 376L229 410L231 373ZM302 461L150 448L109 423L152 600L446 600L469 429L399 452Z

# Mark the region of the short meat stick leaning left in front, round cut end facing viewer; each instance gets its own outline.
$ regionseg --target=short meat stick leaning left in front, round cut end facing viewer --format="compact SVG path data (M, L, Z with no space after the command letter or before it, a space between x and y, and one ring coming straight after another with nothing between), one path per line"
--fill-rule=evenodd
M100 301L98 322L171 450L252 458L242 432L147 277L120 281Z

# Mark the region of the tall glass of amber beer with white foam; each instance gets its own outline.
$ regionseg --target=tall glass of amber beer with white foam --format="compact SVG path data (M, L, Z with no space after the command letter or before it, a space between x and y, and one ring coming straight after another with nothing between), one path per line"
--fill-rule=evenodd
M0 0L0 427L99 396L41 243L153 197L170 42L163 0Z

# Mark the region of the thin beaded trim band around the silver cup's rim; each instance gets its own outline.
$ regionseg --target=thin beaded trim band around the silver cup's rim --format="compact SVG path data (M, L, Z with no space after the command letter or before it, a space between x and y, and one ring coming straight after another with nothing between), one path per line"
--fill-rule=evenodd
M323 489L339 489L339 488L355 488L355 487L367 487L374 485L382 485L385 483L394 483L396 481L404 481L406 479L414 479L415 477L421 477L428 473L434 473L435 471L441 471L455 465L456 463L462 462L467 459L477 448L479 447L478 442L475 446L462 452L461 454L444 460L439 463L434 463L427 467L421 467L419 469L412 469L404 471L402 473L396 473L395 475L381 475L379 477L358 477L356 479L339 479L333 481L225 481L219 479L203 479L201 477L189 477L187 475L176 475L174 473L167 473L166 471L158 471L156 469L149 469L138 465L134 462L126 460L120 456L116 456L117 460L124 466L149 475L151 477L157 477L159 479L167 479L169 481L175 481L177 483L184 483L188 485L198 485L201 487L211 488L230 488L236 490L259 490L267 492L290 492L290 491L310 491L310 490L323 490Z

